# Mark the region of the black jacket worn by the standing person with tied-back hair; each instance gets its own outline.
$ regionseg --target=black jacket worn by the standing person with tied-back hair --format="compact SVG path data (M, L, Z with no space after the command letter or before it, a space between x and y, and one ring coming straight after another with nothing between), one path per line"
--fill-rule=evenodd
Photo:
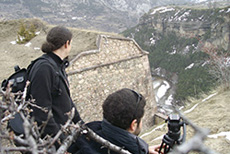
M42 136L55 135L64 125L68 117L66 115L73 107L75 116L73 122L81 120L79 113L70 97L69 83L65 68L66 63L54 53L44 54L56 63L56 68L47 60L39 59L33 65L30 73L29 94L35 99L36 105L52 111L53 116L48 121ZM54 64L55 64L54 63ZM39 125L47 120L48 113L33 107L32 115Z

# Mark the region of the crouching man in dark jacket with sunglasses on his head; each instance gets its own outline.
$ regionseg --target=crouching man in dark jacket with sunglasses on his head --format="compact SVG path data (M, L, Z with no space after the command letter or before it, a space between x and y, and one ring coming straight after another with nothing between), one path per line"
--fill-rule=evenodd
M145 98L130 89L121 89L110 94L103 103L103 121L88 123L87 126L109 142L133 154L158 154L159 146L149 147L138 137L142 128ZM99 143L80 137L71 147L75 154L111 154L115 152Z

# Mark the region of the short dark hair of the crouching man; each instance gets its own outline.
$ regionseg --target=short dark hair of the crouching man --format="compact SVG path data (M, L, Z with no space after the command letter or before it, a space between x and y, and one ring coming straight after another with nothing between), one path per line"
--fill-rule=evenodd
M110 94L103 103L103 117L112 125L128 129L137 119L138 124L144 115L145 98L131 89L121 89Z

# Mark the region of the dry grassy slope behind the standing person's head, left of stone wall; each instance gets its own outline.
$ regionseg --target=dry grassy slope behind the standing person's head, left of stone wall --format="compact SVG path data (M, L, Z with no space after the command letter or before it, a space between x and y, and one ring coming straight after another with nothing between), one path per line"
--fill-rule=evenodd
M20 23L33 23L36 26L37 36L27 44L15 44ZM0 80L8 77L14 71L14 66L26 67L32 60L42 54L40 47L45 41L46 33L54 25L49 25L39 19L20 19L0 22ZM70 28L73 33L72 50L69 58L81 51L96 48L96 39L99 34L118 35L99 31Z

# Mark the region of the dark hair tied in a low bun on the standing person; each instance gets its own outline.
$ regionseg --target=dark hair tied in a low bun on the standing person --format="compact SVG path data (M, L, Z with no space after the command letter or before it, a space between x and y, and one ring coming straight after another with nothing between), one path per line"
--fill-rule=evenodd
M53 52L63 46L68 40L71 41L72 33L63 26L53 27L46 36L46 42L42 45L44 53Z

